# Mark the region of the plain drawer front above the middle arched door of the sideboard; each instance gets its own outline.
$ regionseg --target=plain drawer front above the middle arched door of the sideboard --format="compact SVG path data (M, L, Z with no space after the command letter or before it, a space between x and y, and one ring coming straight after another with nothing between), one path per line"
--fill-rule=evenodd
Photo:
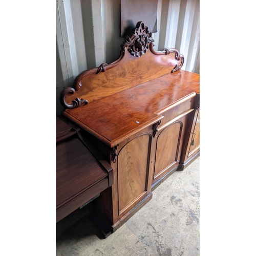
M157 114L160 114L164 117L161 120L159 127L169 122L170 120L173 120L174 118L180 116L182 113L193 109L194 102L195 102L195 95L192 97L190 96L189 98L187 97L187 99L185 100L183 99L169 106L167 109L158 112Z

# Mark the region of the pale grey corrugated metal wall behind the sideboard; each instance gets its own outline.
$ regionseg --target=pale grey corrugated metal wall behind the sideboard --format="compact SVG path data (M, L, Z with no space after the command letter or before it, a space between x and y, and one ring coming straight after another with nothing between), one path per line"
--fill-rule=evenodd
M119 57L120 10L121 0L56 1L56 115L59 93L80 72ZM178 49L182 69L199 73L199 0L158 0L157 31L154 49Z

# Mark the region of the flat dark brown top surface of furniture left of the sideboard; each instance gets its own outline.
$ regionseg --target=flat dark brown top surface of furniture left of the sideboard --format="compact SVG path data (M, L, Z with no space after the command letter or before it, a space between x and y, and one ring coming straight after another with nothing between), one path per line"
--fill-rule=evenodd
M56 208L105 177L108 173L78 138L56 145Z

